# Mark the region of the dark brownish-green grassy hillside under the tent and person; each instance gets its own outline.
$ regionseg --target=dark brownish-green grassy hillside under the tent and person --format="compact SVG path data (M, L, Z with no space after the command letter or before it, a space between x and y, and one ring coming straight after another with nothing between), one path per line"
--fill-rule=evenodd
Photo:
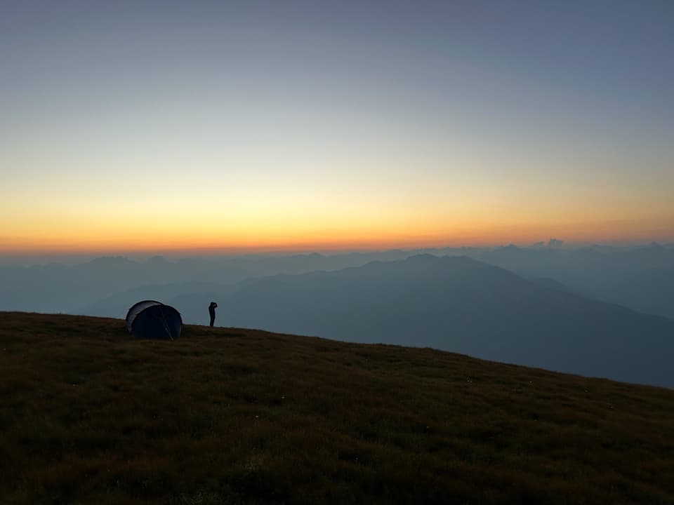
M674 391L0 313L0 503L674 503Z

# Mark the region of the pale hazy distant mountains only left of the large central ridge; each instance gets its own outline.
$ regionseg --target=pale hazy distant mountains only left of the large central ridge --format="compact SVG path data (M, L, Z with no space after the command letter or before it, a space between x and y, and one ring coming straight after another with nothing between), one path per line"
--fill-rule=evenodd
M125 309L115 304L114 299L124 300L121 305L128 308L128 304L135 301L131 290L138 290L136 294L140 297L157 298L176 295L171 286L164 288L160 285L223 285L251 277L355 267L375 259L398 260L411 254L409 251L390 250L340 255L243 255L181 260L155 256L145 261L118 256L98 257L72 265L55 262L29 267L0 265L0 310L119 317L119 311ZM150 294L143 295L141 292ZM194 289L188 286L177 292L194 292Z

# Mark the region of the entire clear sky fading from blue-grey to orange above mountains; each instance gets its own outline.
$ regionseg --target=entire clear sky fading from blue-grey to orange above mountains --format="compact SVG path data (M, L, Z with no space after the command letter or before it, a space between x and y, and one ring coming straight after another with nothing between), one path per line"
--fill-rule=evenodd
M0 252L674 239L674 2L0 3Z

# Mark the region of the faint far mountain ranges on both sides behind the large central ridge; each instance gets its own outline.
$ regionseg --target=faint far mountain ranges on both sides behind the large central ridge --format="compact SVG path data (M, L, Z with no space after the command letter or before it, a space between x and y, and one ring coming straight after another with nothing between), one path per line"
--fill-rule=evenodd
M161 256L138 261L100 257L75 264L0 265L0 310L65 312L118 317L137 297L227 291L247 278L303 274L403 260L420 253L466 255L548 287L583 294L674 319L674 249L593 245L563 248L544 243L529 248L441 248L322 255ZM199 283L211 288L197 286ZM183 285L183 287L181 287ZM219 286L219 287L218 287ZM133 290L136 290L133 292Z

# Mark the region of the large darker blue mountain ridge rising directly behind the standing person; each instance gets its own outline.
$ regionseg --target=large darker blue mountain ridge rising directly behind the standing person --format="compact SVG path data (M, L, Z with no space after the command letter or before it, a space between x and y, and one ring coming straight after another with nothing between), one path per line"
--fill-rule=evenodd
M192 300L192 302L190 302ZM203 295L171 303L204 321ZM353 342L431 346L494 361L674 386L674 321L529 281L468 257L417 255L246 281L217 323Z

